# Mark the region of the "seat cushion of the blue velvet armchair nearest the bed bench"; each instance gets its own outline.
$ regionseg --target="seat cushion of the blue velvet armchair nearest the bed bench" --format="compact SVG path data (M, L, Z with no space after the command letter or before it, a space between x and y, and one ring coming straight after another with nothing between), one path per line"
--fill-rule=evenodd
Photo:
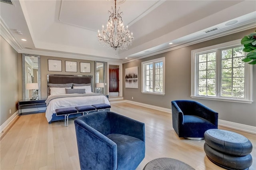
M145 142L142 140L124 134L108 134L107 137L116 143L118 169L137 167L143 160Z

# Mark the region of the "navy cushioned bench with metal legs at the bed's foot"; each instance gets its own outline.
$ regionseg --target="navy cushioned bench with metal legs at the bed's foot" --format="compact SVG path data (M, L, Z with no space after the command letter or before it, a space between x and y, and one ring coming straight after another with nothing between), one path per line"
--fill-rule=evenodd
M95 105L84 105L84 106L77 106L77 107L65 107L60 109L55 109L56 116L65 116L65 124L67 119L67 127L68 127L68 116L77 113L84 113L88 114L90 111L100 111L105 109L110 109L111 106L105 103L95 104Z

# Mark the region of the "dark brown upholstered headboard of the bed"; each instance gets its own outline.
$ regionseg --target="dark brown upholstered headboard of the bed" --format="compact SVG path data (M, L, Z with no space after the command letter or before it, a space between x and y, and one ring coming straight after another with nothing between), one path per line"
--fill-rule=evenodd
M52 84L66 84L66 83L77 83L77 84L88 84L91 83L93 89L92 75L47 75L47 83ZM49 88L47 88L49 94Z

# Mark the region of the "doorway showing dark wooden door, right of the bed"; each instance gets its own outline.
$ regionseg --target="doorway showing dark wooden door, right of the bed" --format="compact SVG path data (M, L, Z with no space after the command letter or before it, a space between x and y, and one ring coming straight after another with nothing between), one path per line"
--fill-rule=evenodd
M119 97L119 65L109 65L109 97Z

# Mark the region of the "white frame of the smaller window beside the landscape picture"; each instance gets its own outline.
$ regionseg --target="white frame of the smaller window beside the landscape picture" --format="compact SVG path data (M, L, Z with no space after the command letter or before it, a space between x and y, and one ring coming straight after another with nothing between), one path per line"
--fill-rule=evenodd
M146 65L146 64L150 64L150 63L157 63L157 62L160 62L160 61L162 61L163 62L163 92L162 93L159 93L159 92L149 92L149 91L145 91L145 89L144 89L144 85L145 85L145 67L144 67L144 65ZM152 95L165 95L165 91L164 91L164 89L165 89L165 57L161 57L161 58L157 58L157 59L152 59L152 60L149 60L149 61L144 61L144 62L142 62L141 63L141 77L142 77L142 83L141 83L141 85L142 85L142 92L141 93L145 93L145 94L152 94ZM153 67L154 68L154 67ZM153 77L155 76L155 74L154 74L154 71L153 71ZM154 81L154 78L153 78L153 81ZM154 86L153 86L153 89L154 89Z

